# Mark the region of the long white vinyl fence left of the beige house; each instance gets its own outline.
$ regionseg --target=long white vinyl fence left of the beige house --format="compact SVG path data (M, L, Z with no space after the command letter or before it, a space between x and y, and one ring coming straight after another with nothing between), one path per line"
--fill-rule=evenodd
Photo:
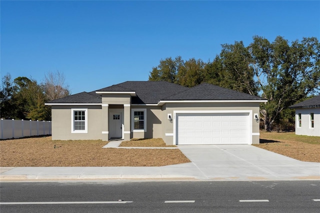
M51 134L51 121L0 120L0 139Z

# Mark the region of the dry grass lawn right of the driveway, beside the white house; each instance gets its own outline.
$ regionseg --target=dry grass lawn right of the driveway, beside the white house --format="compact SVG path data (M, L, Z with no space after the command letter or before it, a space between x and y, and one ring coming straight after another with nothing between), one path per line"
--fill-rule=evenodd
M302 161L320 162L320 137L295 135L294 132L260 132L264 148Z

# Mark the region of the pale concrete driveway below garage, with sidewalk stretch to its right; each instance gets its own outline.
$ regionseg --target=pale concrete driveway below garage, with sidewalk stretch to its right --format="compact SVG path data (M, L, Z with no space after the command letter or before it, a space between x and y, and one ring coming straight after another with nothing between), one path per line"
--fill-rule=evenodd
M252 145L178 145L204 179L320 179L320 163Z

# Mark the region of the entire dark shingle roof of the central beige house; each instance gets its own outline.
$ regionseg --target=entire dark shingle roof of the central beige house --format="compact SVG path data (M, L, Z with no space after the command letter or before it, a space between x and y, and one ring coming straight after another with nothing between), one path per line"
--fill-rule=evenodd
M264 100L247 93L202 83L192 88L167 81L125 81L98 89L99 92L132 92L132 104L156 104L160 100ZM101 95L91 92L80 92L48 103L101 103Z

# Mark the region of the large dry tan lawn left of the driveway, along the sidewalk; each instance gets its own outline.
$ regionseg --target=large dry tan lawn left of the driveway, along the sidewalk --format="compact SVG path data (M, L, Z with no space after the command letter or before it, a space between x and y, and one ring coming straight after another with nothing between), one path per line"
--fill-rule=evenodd
M0 166L163 166L190 162L179 149L102 148L106 143L52 141L51 136L1 140Z

